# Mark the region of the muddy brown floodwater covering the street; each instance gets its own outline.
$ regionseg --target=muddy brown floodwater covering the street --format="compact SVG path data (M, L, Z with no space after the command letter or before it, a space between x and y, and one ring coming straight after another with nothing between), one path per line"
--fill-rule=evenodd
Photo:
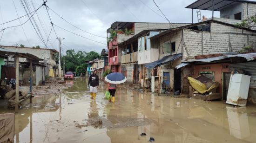
M15 115L16 143L255 143L256 107L222 101L141 93L117 88L115 104L101 84L90 99L85 78L67 82L61 95L43 95L22 104ZM1 101L0 113L11 113ZM146 136L140 136L146 133Z

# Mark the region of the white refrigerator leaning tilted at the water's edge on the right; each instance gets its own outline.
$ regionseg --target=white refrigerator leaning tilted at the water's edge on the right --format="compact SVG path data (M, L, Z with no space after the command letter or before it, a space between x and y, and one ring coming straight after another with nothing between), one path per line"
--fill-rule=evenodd
M246 106L250 78L250 76L244 74L231 75L226 102L227 104Z

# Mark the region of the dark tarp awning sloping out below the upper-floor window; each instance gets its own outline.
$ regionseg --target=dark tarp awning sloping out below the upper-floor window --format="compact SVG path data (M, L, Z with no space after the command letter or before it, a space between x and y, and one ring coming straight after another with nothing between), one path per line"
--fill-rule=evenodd
M165 56L163 57L162 59L159 59L155 62L152 62L152 63L148 63L146 65L144 65L147 69L153 69L159 65L164 65L164 64L167 64L171 61L174 61L175 59L177 58L180 58L182 57L182 53L179 53L179 54L175 54L175 55L169 55L169 56Z

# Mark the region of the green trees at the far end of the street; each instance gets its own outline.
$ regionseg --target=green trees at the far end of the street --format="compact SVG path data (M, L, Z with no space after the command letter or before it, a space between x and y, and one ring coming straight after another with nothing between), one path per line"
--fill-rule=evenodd
M75 71L76 75L85 73L87 70L86 63L96 58L103 59L99 53L94 51L87 53L82 51L75 52L74 49L67 50L65 53L65 72ZM63 61L63 56L61 57L61 61ZM61 63L61 67L63 67L63 62Z

